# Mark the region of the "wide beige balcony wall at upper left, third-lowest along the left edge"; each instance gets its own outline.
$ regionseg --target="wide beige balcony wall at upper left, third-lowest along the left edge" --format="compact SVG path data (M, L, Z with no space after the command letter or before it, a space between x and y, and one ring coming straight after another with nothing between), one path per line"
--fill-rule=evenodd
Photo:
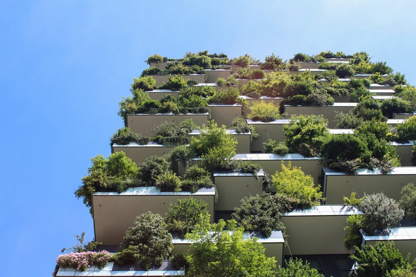
M158 113L158 114L128 114L127 115L127 127L135 133L141 133L144 135L151 134L152 129L155 126L160 125L162 122L172 120L179 125L186 119L192 119L197 126L207 125L208 113L204 114L171 114L171 113Z

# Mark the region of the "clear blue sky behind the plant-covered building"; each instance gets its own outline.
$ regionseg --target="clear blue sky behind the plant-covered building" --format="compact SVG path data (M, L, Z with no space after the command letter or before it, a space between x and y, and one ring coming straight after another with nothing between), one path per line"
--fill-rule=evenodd
M0 1L0 268L50 276L92 218L74 190L158 53L367 51L416 85L416 2Z

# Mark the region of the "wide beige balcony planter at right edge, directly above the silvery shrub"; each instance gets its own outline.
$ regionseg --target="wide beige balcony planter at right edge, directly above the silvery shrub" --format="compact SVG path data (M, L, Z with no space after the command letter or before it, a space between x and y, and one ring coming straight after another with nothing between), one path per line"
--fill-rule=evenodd
M397 167L388 174L361 169L357 175L347 175L329 168L322 169L325 204L329 205L344 203L343 197L349 197L351 192L355 192L357 197L364 196L364 193L383 192L387 197L399 200L401 189L415 180L416 167Z

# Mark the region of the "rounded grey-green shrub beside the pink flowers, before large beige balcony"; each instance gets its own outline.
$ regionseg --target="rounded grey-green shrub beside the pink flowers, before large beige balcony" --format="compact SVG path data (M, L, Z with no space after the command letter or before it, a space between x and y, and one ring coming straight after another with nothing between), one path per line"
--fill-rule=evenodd
M161 215L147 212L136 217L133 226L127 229L120 248L130 245L138 248L139 263L148 270L152 265L161 266L172 251L172 235L166 230Z

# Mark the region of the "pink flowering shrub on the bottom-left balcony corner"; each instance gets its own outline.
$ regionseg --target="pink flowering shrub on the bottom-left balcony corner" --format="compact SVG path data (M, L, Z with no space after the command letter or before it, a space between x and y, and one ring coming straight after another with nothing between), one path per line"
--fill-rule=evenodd
M56 258L58 266L73 267L76 270L86 270L93 264L98 266L99 269L103 268L111 259L113 255L105 250L100 252L80 252L80 253L68 253L59 255Z

